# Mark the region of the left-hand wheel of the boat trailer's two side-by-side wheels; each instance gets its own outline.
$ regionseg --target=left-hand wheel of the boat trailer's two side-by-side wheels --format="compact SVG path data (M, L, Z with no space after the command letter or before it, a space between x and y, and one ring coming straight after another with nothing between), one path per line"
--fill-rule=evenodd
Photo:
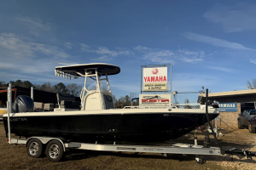
M43 155L43 144L39 139L31 139L26 145L26 153L28 156L38 158Z

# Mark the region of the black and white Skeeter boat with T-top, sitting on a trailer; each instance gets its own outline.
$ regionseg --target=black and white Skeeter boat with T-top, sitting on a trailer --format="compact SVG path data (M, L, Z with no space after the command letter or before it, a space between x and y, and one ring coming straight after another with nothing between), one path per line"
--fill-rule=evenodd
M170 105L162 109L114 109L108 76L119 74L117 65L93 63L55 67L55 76L76 79L84 77L81 105L61 100L55 111L10 114L10 130L21 137L61 137L70 141L165 141L177 139L218 116L212 106L180 109ZM94 81L90 88L89 79ZM105 84L103 83L105 82ZM29 103L29 99L24 99ZM18 102L16 99L16 106ZM26 103L23 102L23 103ZM75 107L74 107L75 106ZM6 134L8 114L3 115Z

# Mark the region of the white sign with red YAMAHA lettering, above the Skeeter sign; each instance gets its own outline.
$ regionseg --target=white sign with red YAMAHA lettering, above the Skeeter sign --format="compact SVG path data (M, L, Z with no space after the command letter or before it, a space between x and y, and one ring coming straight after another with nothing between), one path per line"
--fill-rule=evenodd
M167 67L143 68L143 91L166 91Z

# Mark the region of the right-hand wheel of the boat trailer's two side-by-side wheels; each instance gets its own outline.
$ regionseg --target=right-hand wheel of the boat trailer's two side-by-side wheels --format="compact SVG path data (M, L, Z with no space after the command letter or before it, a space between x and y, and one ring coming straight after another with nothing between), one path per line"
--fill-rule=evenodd
M63 145L59 140L50 141L45 152L49 161L61 161L64 157Z

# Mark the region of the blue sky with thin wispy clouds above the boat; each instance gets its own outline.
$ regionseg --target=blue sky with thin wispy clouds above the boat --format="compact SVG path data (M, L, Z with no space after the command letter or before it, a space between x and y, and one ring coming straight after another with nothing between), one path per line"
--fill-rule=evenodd
M141 65L172 64L172 91L245 90L256 78L255 8L236 0L2 0L0 81L82 85L55 77L55 67L108 63L121 69L108 77L121 97L140 94ZM178 102L196 103L197 94L186 95Z

